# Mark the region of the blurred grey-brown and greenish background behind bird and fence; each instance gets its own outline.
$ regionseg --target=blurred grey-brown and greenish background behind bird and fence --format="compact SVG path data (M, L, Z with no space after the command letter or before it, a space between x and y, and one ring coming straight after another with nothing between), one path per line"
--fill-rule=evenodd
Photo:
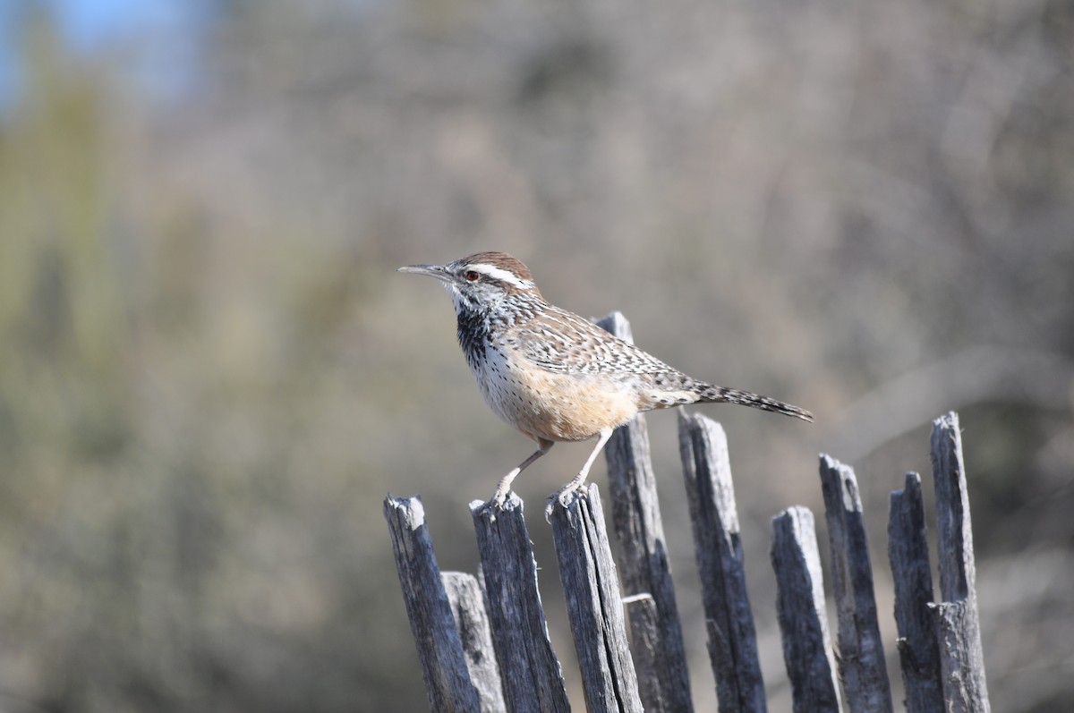
M532 445L394 270L479 249L816 414L705 409L772 710L770 518L826 549L817 453L855 467L894 642L887 497L952 409L992 708L1074 710L1072 70L1072 0L0 3L0 711L427 710L382 498L475 571ZM516 484L579 709L534 514L589 448Z

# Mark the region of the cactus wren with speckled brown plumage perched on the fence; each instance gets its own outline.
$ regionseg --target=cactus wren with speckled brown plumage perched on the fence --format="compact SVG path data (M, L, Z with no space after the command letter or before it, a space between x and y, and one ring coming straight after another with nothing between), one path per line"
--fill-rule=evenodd
M549 304L529 270L503 252L478 252L446 265L400 272L444 282L455 304L459 344L496 416L537 441L537 450L499 481L502 506L511 481L558 440L597 437L582 469L549 497L585 482L612 431L640 411L683 404L753 406L812 421L813 416L766 396L693 379L596 324Z

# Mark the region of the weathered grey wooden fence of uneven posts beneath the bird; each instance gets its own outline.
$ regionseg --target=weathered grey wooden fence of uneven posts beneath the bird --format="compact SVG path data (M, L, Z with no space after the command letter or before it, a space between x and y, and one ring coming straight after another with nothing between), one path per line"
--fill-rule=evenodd
M619 314L600 324L629 338ZM727 439L719 423L695 413L680 416L679 441L719 710L766 711ZM904 490L891 494L888 523L905 708L909 713L986 712L957 414L933 422L931 449L939 600L917 474L908 474ZM643 417L616 431L606 453L612 524L623 553L619 574L596 485L557 504L551 516L585 707L590 713L690 712L682 626ZM888 713L894 707L857 482L850 467L827 455L821 456L819 470L838 656L828 630L813 514L793 507L772 519L771 561L794 710ZM503 509L475 501L470 512L481 579L440 573L417 497L384 500L430 707L435 713L569 711L522 503L512 494Z

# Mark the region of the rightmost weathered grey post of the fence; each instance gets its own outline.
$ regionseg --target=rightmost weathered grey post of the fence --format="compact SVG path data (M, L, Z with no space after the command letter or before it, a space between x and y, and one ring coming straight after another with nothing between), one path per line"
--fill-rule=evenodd
M931 445L942 600L933 612L940 635L944 701L949 713L987 713L970 498L957 413L952 411L932 422Z

